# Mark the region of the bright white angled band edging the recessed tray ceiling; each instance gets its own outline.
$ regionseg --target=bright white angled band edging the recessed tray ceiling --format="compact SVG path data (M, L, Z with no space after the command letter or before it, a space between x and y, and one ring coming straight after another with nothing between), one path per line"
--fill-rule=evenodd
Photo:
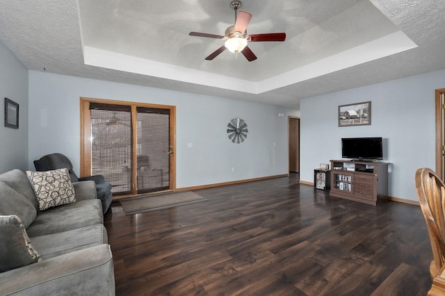
M83 47L83 60L86 65L115 69L124 72L155 76L163 79L172 79L186 83L207 85L226 90L261 94L277 88L282 88L293 83L330 74L332 72L378 60L385 56L398 54L417 45L402 31L397 31L378 38L371 42L342 51L330 57L323 58L314 63L298 67L284 74L279 74L263 81L245 81L232 77L204 72L187 67L171 65L167 63L129 56L95 47ZM211 63L211 62L209 62Z

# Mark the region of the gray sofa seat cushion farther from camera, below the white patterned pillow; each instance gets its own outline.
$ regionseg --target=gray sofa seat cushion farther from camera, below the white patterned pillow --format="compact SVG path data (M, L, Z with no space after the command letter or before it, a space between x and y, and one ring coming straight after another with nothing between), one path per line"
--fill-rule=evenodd
M26 232L32 239L95 224L104 224L102 204L99 199L86 199L39 212Z

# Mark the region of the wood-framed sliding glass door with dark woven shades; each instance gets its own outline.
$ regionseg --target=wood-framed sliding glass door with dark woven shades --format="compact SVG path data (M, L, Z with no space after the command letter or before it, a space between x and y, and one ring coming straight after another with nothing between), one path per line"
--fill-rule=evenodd
M81 98L81 174L115 197L175 189L175 106Z

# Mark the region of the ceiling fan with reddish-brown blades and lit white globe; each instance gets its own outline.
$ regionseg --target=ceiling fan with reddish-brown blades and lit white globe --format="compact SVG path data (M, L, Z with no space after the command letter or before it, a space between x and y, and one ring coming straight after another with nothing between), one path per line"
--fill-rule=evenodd
M230 6L235 10L235 25L229 26L225 30L225 35L216 35L216 34L208 34L208 33L200 33L200 32L190 32L188 35L198 36L198 37L206 37L206 38L216 38L225 40L225 44L213 51L206 60L213 60L219 54L221 54L225 49L229 49L234 53L241 53L248 59L249 62L252 60L256 60L257 56L253 53L253 51L248 47L248 42L261 42L261 41L284 41L286 40L286 33L266 33L266 34L252 34L248 35L246 28L250 22L250 18L252 15L250 13L246 13L245 11L240 11L238 13L238 8L241 7L241 1L232 1L230 2Z

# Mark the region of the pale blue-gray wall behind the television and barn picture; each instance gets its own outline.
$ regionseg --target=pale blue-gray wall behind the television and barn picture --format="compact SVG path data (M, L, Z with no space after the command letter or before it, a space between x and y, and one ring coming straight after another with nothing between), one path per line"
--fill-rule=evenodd
M435 169L435 90L445 88L445 70L362 88L312 97L301 102L302 181L314 168L341 159L341 138L384 138L389 195L417 200L414 173ZM371 101L371 125L338 126L338 106Z

